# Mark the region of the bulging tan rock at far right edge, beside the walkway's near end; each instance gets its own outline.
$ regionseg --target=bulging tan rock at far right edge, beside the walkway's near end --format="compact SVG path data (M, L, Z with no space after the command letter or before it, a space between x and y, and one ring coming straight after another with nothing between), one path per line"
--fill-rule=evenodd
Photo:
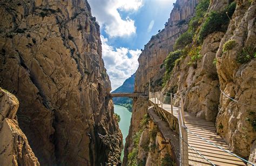
M234 153L243 157L250 155L256 138L256 60L245 61L246 56L255 57L255 9L255 1L237 1L237 8L216 54L223 92L220 94L217 132ZM235 45L225 51L223 47L224 44L227 46L228 40L233 40Z

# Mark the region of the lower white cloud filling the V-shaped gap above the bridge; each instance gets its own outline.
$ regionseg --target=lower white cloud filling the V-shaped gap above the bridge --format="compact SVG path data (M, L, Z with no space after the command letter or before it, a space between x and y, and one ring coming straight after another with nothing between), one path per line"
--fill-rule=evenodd
M107 43L107 38L100 36L102 40L102 55L107 74L111 80L112 90L123 84L138 68L140 50L129 50L125 47L114 49Z

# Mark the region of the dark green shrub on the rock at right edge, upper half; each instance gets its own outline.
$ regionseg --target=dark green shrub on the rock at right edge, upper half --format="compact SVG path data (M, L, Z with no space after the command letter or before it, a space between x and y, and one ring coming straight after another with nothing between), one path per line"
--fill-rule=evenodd
M256 58L256 46L248 46L242 49L242 52L237 56L237 61L240 64L245 64Z

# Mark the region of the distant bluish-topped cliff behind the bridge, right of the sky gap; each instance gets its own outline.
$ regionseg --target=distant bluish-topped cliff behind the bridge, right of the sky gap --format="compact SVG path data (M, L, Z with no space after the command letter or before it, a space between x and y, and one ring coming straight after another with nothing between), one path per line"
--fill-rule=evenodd
M173 51L176 39L187 30L188 20L192 17L197 3L198 0L178 0L175 3L165 28L152 36L139 56L134 91L147 92L149 80L151 88L155 91L161 89L164 74L161 65L169 52Z

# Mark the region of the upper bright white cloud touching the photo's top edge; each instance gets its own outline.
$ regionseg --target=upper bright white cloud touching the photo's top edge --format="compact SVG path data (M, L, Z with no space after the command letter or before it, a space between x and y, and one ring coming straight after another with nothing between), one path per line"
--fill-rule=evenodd
M136 33L134 20L122 19L119 11L137 11L143 0L89 0L92 14L110 37L124 37Z

